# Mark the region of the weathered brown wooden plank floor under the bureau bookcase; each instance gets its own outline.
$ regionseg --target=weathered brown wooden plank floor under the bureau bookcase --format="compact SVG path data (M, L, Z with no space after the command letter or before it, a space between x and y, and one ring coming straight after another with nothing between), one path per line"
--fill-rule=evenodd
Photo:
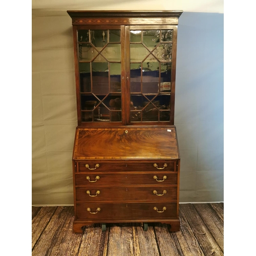
M100 224L73 233L73 206L32 206L32 256L221 256L223 203L180 204L181 228L166 224Z

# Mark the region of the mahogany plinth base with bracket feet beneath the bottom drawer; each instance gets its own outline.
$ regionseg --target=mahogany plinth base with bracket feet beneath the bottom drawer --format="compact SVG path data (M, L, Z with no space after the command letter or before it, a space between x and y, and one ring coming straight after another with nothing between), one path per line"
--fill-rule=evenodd
M127 222L132 222L132 223L137 223L137 222L140 222L140 223L156 223L156 222L160 222L160 223L163 223L163 224L169 224L169 231L179 231L180 230L180 220L179 219L155 219L155 220L148 220L148 219L136 219L136 220L132 220L132 221L127 221L127 220L111 220L111 221L104 221L104 223L127 223ZM78 221L78 220L75 220L73 222L73 231L75 233L82 233L83 232L83 228L84 226L88 226L88 225L91 225L91 224L99 224L101 223L100 220L99 221Z

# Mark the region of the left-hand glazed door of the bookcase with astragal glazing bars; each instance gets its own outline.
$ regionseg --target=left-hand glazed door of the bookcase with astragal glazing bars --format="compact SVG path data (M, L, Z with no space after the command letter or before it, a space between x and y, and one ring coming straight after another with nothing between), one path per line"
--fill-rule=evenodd
M74 27L79 125L124 124L124 27Z

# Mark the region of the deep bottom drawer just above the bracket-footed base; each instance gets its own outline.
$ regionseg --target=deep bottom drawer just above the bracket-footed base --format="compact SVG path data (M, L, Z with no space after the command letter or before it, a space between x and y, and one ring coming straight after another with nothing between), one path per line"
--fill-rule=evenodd
M77 219L88 220L173 218L177 217L177 203L78 203L76 214Z

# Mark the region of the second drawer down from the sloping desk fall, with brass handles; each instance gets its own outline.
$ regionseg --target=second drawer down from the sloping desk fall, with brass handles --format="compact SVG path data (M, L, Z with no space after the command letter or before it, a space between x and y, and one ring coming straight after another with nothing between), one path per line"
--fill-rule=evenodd
M92 172L75 175L77 186L86 185L96 188L97 185L158 185L158 184L177 184L177 173L170 172L111 172L101 173Z

